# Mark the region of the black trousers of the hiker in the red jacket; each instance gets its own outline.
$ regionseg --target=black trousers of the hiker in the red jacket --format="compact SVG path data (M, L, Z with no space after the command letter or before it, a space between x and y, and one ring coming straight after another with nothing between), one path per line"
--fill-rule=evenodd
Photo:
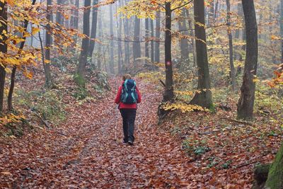
M134 142L134 120L136 119L137 109L120 109L123 119L124 142L129 139Z

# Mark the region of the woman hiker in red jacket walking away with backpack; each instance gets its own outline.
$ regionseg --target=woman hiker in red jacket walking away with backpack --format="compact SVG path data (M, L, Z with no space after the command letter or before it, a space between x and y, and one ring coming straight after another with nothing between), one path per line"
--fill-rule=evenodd
M137 103L141 102L141 93L130 74L125 74L122 79L123 83L119 87L115 103L118 104L122 115L124 143L132 146L134 144L134 120L137 114Z

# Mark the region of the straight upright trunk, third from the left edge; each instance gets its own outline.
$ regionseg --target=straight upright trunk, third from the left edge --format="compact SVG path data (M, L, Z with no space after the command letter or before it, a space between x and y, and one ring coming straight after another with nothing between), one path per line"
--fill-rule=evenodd
M52 16L52 10L50 8L52 6L52 0L47 0L47 21L51 21ZM45 59L50 60L50 47L51 47L51 33L50 30L47 27L46 33L45 33ZM50 64L45 64L45 86L47 88L50 88L52 86L52 77L51 77L51 71L50 71Z

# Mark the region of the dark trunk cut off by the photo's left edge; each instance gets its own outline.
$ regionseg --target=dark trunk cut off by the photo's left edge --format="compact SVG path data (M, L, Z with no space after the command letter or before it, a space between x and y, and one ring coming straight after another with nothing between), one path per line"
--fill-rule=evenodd
M8 30L7 27L7 3L6 1L2 3L0 1L0 21L4 24L0 25L0 33L3 33L4 30ZM0 52L4 55L7 53L7 44L6 44L7 37L6 35L2 36L2 39L0 39ZM5 89L5 79L6 79L6 62L2 62L2 65L0 66L0 113L3 111L4 108L4 89Z

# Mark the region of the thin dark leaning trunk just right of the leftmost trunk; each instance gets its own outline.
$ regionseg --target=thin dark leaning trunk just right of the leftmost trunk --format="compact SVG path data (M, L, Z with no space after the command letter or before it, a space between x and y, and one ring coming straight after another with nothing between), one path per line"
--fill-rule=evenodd
M32 5L35 4L35 1L36 0L33 0L32 2ZM28 29L28 20L25 20L24 23L23 23L23 30L24 32L26 32ZM24 33L23 35L24 36ZM18 54L21 53L21 51L23 50L23 47L25 46L25 40L26 40L26 37L23 37L23 41L21 42L21 45L18 49ZM10 84L10 89L8 91L8 110L12 110L13 109L13 89L15 88L15 79L16 79L16 70L17 70L17 67L16 65L13 66L13 69L12 69L12 74L11 74L11 84Z

